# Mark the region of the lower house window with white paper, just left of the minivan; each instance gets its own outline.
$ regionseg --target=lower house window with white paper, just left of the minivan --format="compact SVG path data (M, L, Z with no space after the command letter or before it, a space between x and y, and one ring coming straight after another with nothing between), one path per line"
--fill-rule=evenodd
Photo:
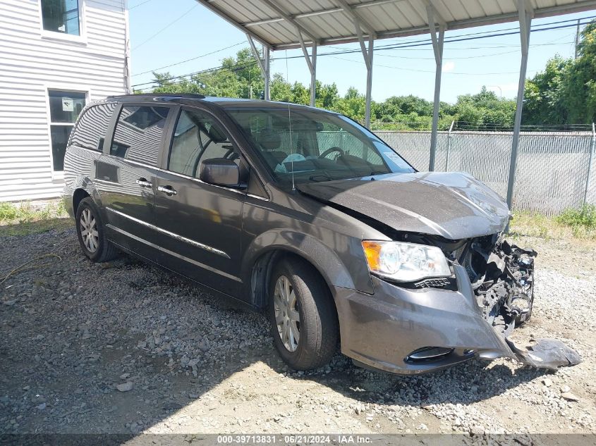
M75 121L85 107L85 93L48 90L51 158L54 172L64 170L64 154Z

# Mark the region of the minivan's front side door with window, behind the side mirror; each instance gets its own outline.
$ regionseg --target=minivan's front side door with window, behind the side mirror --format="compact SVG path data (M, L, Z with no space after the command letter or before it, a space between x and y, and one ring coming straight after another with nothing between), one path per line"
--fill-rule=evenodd
M171 147L157 175L159 263L229 295L241 290L240 254L245 193L198 180L202 161L241 163L223 126L207 111L181 109Z

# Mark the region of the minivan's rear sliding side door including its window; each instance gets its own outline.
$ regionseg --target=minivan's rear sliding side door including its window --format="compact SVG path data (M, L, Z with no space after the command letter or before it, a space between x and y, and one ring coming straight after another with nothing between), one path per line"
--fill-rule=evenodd
M108 237L152 261L157 260L152 242L157 171L169 110L122 106L109 153L95 170Z

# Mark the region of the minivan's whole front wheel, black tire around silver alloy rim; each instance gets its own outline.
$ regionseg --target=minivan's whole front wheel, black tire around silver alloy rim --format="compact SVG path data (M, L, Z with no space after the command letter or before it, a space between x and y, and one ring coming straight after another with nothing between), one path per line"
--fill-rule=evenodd
M284 292L287 295L288 290L289 302L284 304ZM291 316L284 318L281 314ZM285 257L274 266L269 285L269 321L277 351L294 370L323 366L336 352L339 330L332 296L315 268L299 257Z

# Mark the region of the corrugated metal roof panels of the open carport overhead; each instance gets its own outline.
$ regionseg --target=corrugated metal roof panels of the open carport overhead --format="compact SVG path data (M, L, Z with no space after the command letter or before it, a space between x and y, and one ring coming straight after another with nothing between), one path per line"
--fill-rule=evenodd
M197 0L271 49L358 41L353 16L363 35L387 39L429 32L427 5L447 29L518 20L515 0ZM530 0L536 18L587 11L596 0Z

